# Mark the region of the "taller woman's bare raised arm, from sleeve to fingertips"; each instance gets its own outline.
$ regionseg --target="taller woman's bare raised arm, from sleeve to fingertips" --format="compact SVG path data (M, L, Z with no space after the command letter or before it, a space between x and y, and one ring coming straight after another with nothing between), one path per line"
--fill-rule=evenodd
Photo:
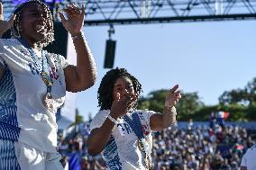
M67 6L59 17L65 29L69 31L77 53L77 66L69 65L64 69L66 87L69 92L80 92L95 84L96 63L84 38L82 29L85 20L85 6L79 10L75 4Z

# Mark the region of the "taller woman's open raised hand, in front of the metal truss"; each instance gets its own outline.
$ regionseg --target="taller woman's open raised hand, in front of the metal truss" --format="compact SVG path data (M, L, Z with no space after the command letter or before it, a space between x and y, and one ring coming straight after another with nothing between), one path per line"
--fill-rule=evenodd
M80 34L85 20L85 5L82 4L81 10L75 4L68 5L63 11L68 14L68 18L66 19L64 14L59 12L60 20L65 29L72 36Z

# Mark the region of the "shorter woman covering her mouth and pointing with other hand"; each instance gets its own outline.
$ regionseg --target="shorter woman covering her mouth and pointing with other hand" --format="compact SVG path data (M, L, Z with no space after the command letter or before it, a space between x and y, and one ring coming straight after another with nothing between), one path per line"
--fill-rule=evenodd
M140 82L124 68L114 68L98 88L100 111L91 122L88 153L103 151L106 169L151 169L151 132L176 122L175 105L181 98L178 85L169 90L163 113L136 110Z

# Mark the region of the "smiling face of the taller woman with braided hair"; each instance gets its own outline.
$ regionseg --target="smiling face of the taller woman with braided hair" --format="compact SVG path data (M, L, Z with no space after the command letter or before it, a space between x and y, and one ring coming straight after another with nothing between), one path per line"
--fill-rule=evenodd
M26 4L20 20L21 36L31 45L45 40L50 33L50 14L41 4Z

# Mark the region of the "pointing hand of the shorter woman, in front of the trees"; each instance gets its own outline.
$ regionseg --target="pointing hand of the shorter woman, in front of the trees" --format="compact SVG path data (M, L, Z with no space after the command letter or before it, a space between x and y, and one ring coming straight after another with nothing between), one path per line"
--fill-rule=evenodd
M180 98L181 94L178 90L178 85L174 85L174 87L172 87L172 89L170 89L166 95L164 106L173 107L178 103Z

